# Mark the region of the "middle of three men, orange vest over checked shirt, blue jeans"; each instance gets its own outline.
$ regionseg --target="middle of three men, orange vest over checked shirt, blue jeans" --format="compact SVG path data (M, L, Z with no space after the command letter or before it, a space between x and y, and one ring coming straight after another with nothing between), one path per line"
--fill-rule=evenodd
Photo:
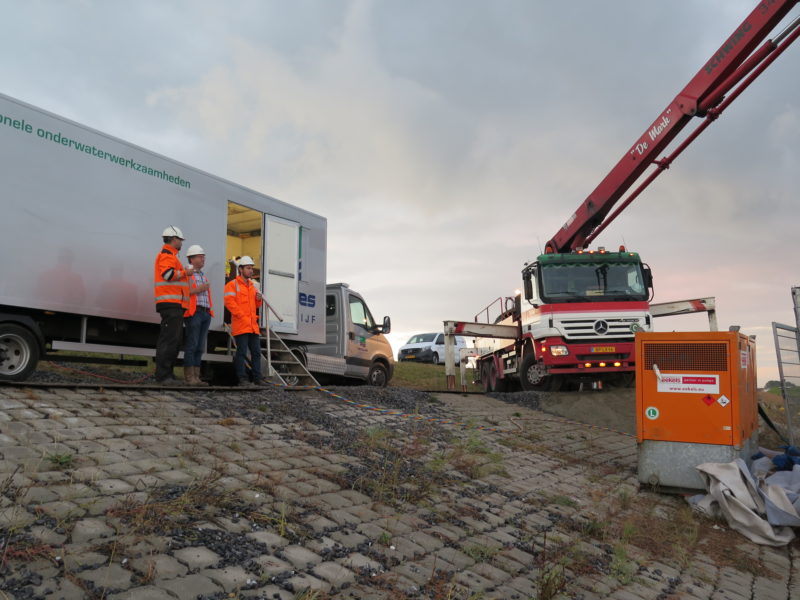
M186 325L186 345L183 349L183 375L189 385L208 385L200 379L203 351L206 347L208 327L214 316L214 302L211 299L211 284L203 267L206 252L197 244L189 246L186 258L194 269L189 277L189 307L183 314Z

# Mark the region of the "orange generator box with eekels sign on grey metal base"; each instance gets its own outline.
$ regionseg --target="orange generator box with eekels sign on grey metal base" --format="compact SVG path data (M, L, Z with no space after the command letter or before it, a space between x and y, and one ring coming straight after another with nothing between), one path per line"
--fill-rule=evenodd
M758 451L755 340L735 331L636 334L639 481L705 489L695 467Z

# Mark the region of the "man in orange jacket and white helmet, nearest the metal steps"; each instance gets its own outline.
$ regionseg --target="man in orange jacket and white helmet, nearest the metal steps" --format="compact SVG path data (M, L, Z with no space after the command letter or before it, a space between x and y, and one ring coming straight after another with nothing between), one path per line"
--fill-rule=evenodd
M261 379L261 329L258 326L258 307L261 292L254 285L253 259L243 256L239 260L235 279L225 284L225 308L231 313L231 330L236 340L236 356L233 365L239 385L263 385ZM245 360L250 353L252 383L245 372Z

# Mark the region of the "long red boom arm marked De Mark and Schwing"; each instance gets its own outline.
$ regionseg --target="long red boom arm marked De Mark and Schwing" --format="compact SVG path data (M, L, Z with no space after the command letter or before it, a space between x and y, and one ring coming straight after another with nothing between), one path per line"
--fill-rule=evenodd
M800 0L762 0L742 22L725 43L703 65L675 99L661 112L658 118L639 137L631 149L625 153L603 181L589 194L578 210L567 220L556 235L545 245L545 252L569 252L584 247L594 239L608 223L655 179L675 157L680 154L719 113L730 104L755 77L777 58L800 34L800 18L790 25L776 41L767 40L757 52L753 52L769 33L778 25ZM787 35L791 29L791 35ZM778 48L780 52L773 52ZM752 56L751 56L752 54ZM735 86L747 77L727 104L718 105ZM669 157L656 160L692 117L706 117L701 127L687 138ZM614 204L641 177L647 168L656 164L659 168L626 199L610 217L607 217ZM605 219L605 221L604 221Z

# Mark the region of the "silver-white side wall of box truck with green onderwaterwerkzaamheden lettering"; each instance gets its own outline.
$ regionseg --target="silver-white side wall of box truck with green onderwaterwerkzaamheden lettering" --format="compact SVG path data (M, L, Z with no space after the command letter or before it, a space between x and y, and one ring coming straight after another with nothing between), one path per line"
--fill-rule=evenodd
M265 295L270 300L267 274L282 273L274 299L295 321L283 335L325 341L323 217L3 95L0 175L4 310L157 323L153 261L161 231L175 225L187 246L205 249L204 271L218 309L212 330L221 330L226 223L229 203L235 203L264 215L265 236L269 218L296 225L296 269L287 271L280 250L264 244Z

